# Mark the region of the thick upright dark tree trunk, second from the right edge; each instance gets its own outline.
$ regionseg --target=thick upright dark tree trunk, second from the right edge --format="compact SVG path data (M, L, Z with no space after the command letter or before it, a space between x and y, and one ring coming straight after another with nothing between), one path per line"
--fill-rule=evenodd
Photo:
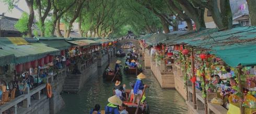
M220 1L220 11L222 12L222 23L226 29L232 29L233 17L229 0Z

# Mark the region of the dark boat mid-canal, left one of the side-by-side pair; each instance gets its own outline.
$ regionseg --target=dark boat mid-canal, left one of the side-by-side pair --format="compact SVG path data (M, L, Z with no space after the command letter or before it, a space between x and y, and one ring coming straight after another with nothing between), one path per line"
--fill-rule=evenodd
M116 81L116 80L121 80L122 79L122 73L121 71L119 70L118 71L119 73L117 73L117 76L114 77L114 71L110 71L110 72L104 72L103 73L103 78L106 79L106 80L112 80L113 78L113 81Z

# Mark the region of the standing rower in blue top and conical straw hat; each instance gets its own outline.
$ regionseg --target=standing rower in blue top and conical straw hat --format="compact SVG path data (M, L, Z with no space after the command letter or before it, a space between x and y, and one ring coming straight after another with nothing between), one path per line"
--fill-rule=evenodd
M143 84L143 81L142 79L145 79L146 76L141 73L137 76L137 80L134 84L134 88L133 88L133 93L134 93L134 99L133 99L133 103L137 100L137 103L139 103L139 99L141 98L142 96L142 91L144 88L148 87L146 84L144 85Z

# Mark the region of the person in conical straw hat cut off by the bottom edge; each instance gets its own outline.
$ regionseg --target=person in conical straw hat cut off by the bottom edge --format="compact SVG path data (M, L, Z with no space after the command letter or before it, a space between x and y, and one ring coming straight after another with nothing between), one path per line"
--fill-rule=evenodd
M109 104L105 107L105 113L119 114L118 106L122 105L121 99L117 96L111 96L108 98Z

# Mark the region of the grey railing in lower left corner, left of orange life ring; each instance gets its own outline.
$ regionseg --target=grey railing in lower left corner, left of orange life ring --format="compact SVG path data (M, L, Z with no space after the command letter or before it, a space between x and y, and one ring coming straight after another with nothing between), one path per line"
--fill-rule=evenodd
M5 113L5 111L11 111L15 114L17 114L17 105L20 102L23 102L22 107L23 108L29 108L31 107L31 96L37 100L41 99L41 91L45 89L45 84L41 84L37 88L34 88L33 90L29 90L29 88L26 89L26 92L24 94L16 97L15 99L11 100L10 102L7 102L4 105L0 106L0 113Z

